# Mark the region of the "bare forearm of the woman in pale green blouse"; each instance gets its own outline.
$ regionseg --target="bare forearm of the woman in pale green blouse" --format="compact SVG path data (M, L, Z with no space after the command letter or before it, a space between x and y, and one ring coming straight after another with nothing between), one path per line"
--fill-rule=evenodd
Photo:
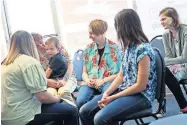
M56 102L60 102L60 97L58 96L53 96L52 94L50 94L47 91L41 91L41 92L37 92L35 93L35 97L44 104L50 104L50 103L56 103Z

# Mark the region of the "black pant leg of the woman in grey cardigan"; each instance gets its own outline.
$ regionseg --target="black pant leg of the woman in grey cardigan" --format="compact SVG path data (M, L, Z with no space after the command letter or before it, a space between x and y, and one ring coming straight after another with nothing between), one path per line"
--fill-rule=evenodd
M170 91L175 96L175 99L177 100L180 109L185 108L187 106L187 101L184 98L179 82L167 67L166 67L165 84L168 86Z

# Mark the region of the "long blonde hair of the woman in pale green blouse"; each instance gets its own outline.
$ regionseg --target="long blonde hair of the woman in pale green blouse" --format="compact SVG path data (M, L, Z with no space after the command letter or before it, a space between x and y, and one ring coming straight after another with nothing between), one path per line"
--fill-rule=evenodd
M9 65L13 63L19 54L25 54L39 60L34 40L27 31L20 30L12 35L8 55L1 64Z

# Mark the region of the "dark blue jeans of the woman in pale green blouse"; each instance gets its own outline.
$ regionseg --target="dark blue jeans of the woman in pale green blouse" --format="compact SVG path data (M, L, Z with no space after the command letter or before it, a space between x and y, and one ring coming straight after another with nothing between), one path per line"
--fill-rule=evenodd
M78 110L69 104L43 104L41 114L35 115L27 125L44 125L54 121L52 125L79 125Z

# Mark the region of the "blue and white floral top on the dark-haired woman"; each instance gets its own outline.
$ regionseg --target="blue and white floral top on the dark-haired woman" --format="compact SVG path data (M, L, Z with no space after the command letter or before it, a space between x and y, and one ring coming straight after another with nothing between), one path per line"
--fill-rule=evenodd
M132 44L122 52L122 70L124 83L119 86L120 90L127 89L137 82L138 63L144 56L150 57L150 74L148 78L147 88L142 94L152 103L156 92L156 67L155 54L149 43L141 43L140 45Z

